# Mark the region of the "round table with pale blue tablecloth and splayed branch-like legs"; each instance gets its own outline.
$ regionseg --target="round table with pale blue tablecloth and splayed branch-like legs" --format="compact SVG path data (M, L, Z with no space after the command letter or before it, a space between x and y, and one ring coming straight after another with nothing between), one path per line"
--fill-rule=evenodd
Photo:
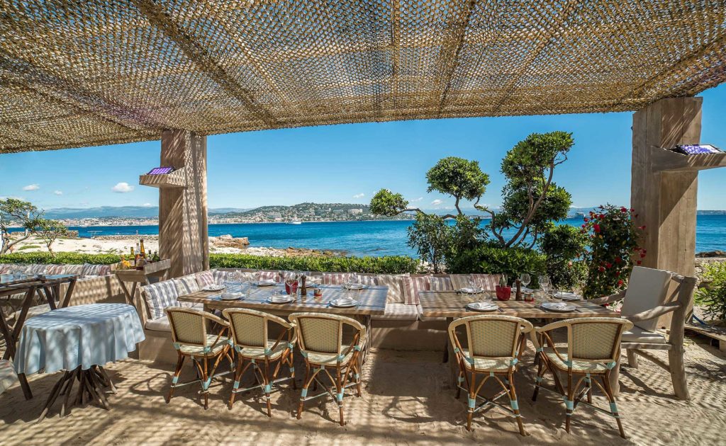
M115 388L103 366L129 358L144 340L136 309L126 304L91 304L66 307L38 315L25 323L15 354L17 373L64 371L53 387L38 421L65 395L60 416L70 405L98 402L108 409L104 387ZM71 397L78 381L76 397Z

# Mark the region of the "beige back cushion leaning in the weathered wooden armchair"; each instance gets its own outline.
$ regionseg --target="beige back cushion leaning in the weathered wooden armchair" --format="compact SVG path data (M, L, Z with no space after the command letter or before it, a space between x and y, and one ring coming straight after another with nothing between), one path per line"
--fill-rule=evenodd
M671 273L668 271L642 266L633 268L620 314L632 316L663 305L666 302L670 280ZM635 325L646 331L654 331L658 328L658 318L636 322Z

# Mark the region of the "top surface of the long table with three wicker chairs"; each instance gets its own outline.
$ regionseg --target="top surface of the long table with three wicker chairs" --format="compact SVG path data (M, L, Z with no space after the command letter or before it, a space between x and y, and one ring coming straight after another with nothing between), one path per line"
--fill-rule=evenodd
M350 297L357 300L359 305L351 308L338 308L330 306L330 301L346 297L346 291L335 285L323 285L322 297L313 297L312 288L308 289L307 296L299 296L289 304L271 304L267 298L275 289L279 292L282 286L254 286L242 285L242 292L247 297L242 300L221 300L221 292L198 291L180 296L181 302L202 303L213 310L225 308L252 308L269 313L293 313L297 311L311 311L319 313L335 313L340 315L383 315L386 311L386 296L388 286L368 286L366 289L351 291Z

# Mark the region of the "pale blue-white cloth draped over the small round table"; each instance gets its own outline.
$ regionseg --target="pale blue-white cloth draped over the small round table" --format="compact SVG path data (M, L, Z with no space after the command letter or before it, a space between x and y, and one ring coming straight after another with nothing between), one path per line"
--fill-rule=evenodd
M126 304L78 305L29 319L15 355L17 373L103 366L124 358L144 340L136 309Z

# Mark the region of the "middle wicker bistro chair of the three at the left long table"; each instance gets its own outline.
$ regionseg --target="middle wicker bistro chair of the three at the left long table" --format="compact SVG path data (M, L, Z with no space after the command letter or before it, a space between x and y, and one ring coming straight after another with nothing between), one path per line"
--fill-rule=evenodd
M232 331L232 346L237 352L237 367L234 372L234 387L229 396L229 409L234 404L234 395L248 390L261 389L267 402L267 416L272 416L270 392L272 386L283 381L292 380L295 389L295 366L293 364L293 347L295 347L294 326L285 319L257 310L230 309L222 312L229 321ZM269 322L282 329L277 339L270 339ZM246 364L245 364L246 363ZM287 364L290 376L277 378L280 368ZM245 371L253 369L257 384L253 387L240 389L240 379ZM274 371L270 375L270 368Z

